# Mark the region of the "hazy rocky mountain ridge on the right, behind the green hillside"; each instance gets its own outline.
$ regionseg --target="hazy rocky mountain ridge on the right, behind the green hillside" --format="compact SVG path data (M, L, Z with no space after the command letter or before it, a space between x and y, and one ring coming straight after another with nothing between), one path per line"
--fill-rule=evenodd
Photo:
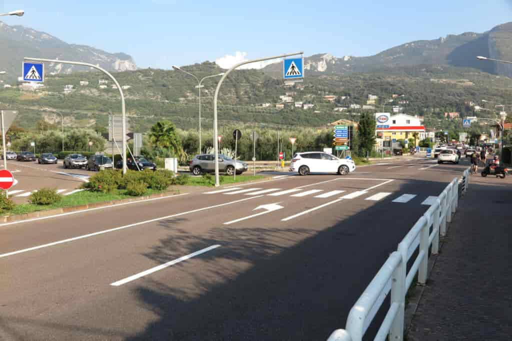
M484 33L465 32L434 40L416 40L382 51L374 56L335 57L328 53L305 58L306 75L347 75L350 73L400 72L400 67L449 65L512 76L512 65L479 61L476 56L512 60L512 22ZM281 75L283 64L270 64L264 71Z

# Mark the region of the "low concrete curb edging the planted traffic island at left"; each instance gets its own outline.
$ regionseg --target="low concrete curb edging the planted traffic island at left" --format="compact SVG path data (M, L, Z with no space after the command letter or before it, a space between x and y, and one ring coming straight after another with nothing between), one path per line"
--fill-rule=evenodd
M17 215L11 215L11 216L10 215L0 216L0 222L23 221L23 220L27 220L27 219L33 219L33 218L48 217L48 216L57 215L57 214L61 214L61 213L77 212L77 211L83 211L83 210L94 209L94 208L99 208L99 207L108 207L108 206L112 206L114 204L119 204L119 203L161 198L164 196L175 195L175 194L179 194L179 191L167 191L167 192L162 192L162 193L158 193L158 194L139 196L136 198L126 198L126 199L119 199L119 200L93 202L93 203L88 203L88 204L84 204L84 205L80 205L80 206L62 207L62 208L58 208L58 209L43 210L43 211L37 211L37 212L31 212L31 213L25 213L25 214L17 214Z

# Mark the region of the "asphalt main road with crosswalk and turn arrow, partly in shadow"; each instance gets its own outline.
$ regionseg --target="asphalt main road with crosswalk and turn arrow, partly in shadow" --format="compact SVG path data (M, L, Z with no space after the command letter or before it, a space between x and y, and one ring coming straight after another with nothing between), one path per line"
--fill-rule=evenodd
M326 339L467 166L288 173L0 225L0 339Z

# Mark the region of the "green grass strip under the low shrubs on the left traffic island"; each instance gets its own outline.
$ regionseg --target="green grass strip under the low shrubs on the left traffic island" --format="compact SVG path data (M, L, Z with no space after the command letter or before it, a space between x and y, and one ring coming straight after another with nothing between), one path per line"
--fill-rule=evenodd
M36 205L33 203L19 204L16 205L16 207L14 207L12 210L4 212L3 215L26 214L31 212L52 210L64 207L81 206L88 203L134 198L133 196L125 194L125 192L125 190L116 190L112 193L82 191L73 193L71 195L62 196L62 199L59 202L51 205ZM157 193L162 192L148 189L146 193L144 193L144 195L152 195Z

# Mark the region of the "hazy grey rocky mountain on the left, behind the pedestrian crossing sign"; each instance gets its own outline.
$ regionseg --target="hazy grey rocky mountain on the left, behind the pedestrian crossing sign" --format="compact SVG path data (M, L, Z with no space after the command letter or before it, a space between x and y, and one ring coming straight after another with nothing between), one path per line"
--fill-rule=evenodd
M89 46L68 44L48 33L23 26L9 26L0 21L0 71L7 71L6 81L14 81L20 75L23 57L74 60L98 64L108 71L133 71L137 65L124 53L108 53ZM49 75L87 71L87 67L47 63Z

